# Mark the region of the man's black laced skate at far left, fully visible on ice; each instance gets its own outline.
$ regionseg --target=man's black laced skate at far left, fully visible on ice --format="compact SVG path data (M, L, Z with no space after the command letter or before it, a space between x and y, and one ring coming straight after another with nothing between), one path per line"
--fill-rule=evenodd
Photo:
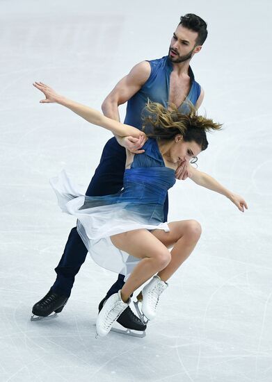
M69 297L57 294L53 290L49 292L38 301L32 308L33 316L31 321L38 321L42 319L49 319L56 317L56 313L61 313ZM52 315L51 313L54 314ZM35 317L36 316L36 317Z

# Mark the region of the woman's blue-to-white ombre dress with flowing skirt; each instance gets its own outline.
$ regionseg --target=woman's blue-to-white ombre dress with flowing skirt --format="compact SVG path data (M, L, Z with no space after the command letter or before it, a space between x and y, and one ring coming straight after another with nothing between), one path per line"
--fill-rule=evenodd
M125 170L124 188L118 194L83 195L65 172L51 179L58 205L77 217L77 231L95 263L125 276L139 259L113 246L111 235L135 229L169 231L163 223L163 204L175 184L175 170L165 166L157 140L150 138L143 149Z

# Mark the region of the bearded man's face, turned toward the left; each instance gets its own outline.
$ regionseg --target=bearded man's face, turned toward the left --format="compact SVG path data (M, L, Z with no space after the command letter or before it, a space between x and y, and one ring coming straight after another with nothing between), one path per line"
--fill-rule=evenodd
M172 63L183 63L190 60L201 49L201 45L196 45L197 38L198 32L184 28L182 25L177 26L169 47L169 60Z

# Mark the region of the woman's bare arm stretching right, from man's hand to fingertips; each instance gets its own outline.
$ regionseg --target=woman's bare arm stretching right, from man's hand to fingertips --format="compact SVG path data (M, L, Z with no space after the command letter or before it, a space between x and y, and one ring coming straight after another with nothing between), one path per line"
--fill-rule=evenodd
M212 178L212 176L209 176L205 172L201 172L198 169L195 169L195 167L190 166L189 169L189 178L191 178L192 181L194 181L198 185L202 185L202 187L208 188L211 191L218 192L218 194L223 194L225 197L230 199L232 203L239 208L240 211L244 212L244 209L248 209L248 205L246 204L246 201L240 197L238 194L234 194L230 190L227 190L223 185L218 183L216 179Z

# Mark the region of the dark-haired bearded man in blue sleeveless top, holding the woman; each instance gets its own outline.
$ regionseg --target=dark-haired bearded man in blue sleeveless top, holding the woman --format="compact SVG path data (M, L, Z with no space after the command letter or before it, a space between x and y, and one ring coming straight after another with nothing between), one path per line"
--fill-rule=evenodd
M199 108L204 97L200 85L195 82L189 66L191 58L202 48L207 38L207 24L200 17L187 14L180 18L180 23L170 42L168 56L159 60L143 61L134 66L129 74L122 78L104 100L102 110L106 117L120 120L118 106L127 102L125 124L141 129L141 113L148 99L163 106L175 103L179 110L186 113L185 99ZM120 146L120 144L122 146ZM103 150L99 166L95 171L86 195L102 196L115 194L122 189L125 171L125 148L134 153L141 153L142 140L131 137L109 140ZM125 147L125 148L124 148ZM187 169L180 166L176 177L184 179ZM164 205L165 221L168 214L168 199ZM33 315L46 317L53 312L60 313L67 303L74 283L74 276L85 261L87 249L77 228L70 232L60 263L56 267L56 281L46 296L33 306ZM100 302L99 310L111 294L118 292L124 285L124 276L111 286L106 297ZM145 331L146 326L132 310L127 309L120 315L118 322L126 329Z

